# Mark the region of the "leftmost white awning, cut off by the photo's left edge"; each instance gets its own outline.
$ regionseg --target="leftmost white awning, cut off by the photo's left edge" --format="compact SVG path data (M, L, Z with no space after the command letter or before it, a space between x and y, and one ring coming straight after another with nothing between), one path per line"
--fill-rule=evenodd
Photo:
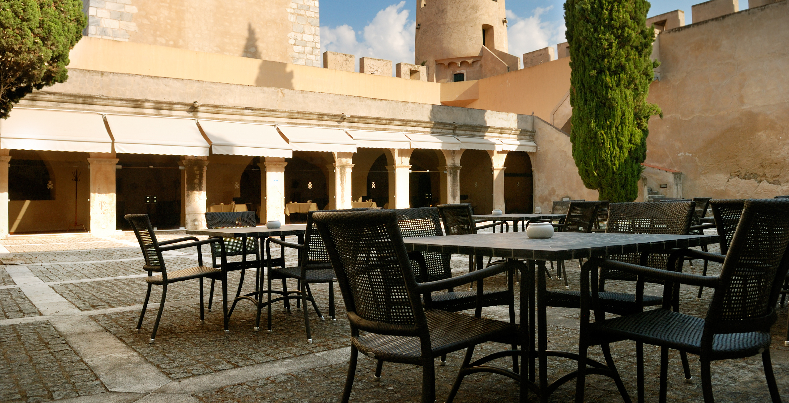
M16 107L0 119L0 148L112 152L101 114Z

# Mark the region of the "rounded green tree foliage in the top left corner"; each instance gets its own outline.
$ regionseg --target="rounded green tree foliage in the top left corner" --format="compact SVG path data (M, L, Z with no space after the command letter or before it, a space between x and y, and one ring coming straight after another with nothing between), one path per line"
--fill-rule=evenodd
M0 118L34 89L69 78L69 50L87 23L82 0L0 0Z

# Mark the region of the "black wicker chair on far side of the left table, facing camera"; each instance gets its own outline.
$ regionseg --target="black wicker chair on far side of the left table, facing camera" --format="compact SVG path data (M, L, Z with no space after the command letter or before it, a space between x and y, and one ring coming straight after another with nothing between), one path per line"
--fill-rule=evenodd
M257 226L257 219L255 211L214 211L205 213L205 222L208 229L212 228L240 228L245 226ZM246 245L244 244L246 241ZM230 306L230 311L227 315L233 315L236 308L237 298L241 296L241 287L244 285L244 274L246 269L257 269L257 277L255 278L255 295L258 291L260 279L260 266L263 263L260 259L260 248L258 248L257 240L255 238L236 238L236 237L222 237L222 242L225 244L225 256L241 256L241 262L227 262L225 271L241 271L241 279L238 281L238 289L233 304ZM247 260L247 256L254 255L254 260ZM222 250L219 243L211 244L211 267L218 269L222 267L221 263L217 263L217 259L222 259ZM251 297L248 294L245 297ZM214 302L214 280L211 280L211 292L208 293L208 312L211 312L211 304Z

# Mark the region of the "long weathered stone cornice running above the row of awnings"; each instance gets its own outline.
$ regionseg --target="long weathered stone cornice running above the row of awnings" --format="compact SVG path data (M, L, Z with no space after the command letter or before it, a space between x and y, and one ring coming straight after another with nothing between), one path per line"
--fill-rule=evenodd
M110 98L95 95L65 94L61 92L35 91L24 97L23 103L19 106L43 107L40 103L56 104L51 109L69 110L91 110L97 111L90 106L107 106L114 110L107 110L106 113L135 113L135 110L145 110L144 114L152 116L177 116L178 118L188 117L204 119L228 119L239 120L245 118L265 118L270 121L280 123L294 123L299 125L320 125L331 123L338 129L367 129L380 131L404 131L404 132L432 132L434 134L462 135L462 136L485 136L501 135L501 138L517 137L519 140L533 140L534 130L532 129L512 129L506 127L494 127L485 125L465 125L441 121L421 121L402 118L379 118L367 116L352 116L343 118L342 114L328 114L318 112L305 112L297 110L275 110L265 108L253 108L242 106L210 105L203 104L198 108L192 103L178 103L172 101L161 101L155 99L128 99ZM64 105L65 104L65 105ZM81 106L81 107L80 107ZM125 109L126 112L118 109ZM218 117L216 115L224 115ZM241 119L243 120L243 119ZM312 123L308 123L310 121ZM338 126L338 123L341 124ZM392 129L396 128L396 129Z

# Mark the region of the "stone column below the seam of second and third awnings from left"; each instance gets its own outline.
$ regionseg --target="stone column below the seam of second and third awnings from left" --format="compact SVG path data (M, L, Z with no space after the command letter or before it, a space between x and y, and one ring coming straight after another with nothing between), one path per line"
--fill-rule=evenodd
M184 215L186 229L204 229L206 204L206 166L208 157L186 155L184 165Z

